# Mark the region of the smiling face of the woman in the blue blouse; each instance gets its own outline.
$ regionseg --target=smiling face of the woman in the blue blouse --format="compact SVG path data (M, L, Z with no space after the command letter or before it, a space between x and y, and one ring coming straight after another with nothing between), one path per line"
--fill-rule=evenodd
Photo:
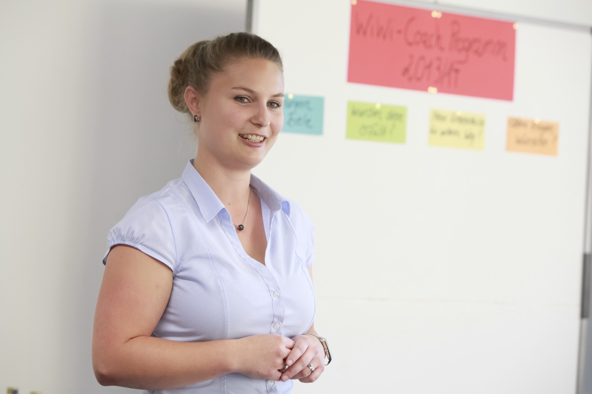
M200 98L198 154L229 169L252 169L284 125L284 75L265 59L231 61ZM204 152L205 153L205 152Z

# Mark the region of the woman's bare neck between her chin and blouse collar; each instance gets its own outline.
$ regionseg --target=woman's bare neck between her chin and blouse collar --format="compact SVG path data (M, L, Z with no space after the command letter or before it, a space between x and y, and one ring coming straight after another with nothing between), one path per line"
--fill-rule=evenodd
M226 206L230 214L246 209L249 199L250 170L233 170L222 166L215 157L198 150L194 168Z

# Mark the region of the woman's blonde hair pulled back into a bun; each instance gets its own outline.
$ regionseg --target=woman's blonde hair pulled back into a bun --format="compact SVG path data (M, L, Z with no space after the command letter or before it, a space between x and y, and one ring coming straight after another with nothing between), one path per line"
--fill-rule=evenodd
M212 75L221 72L231 59L240 57L267 59L284 70L279 51L258 35L230 33L214 40L198 41L170 67L170 104L179 112L191 114L185 104L185 89L193 86L198 92L207 92Z

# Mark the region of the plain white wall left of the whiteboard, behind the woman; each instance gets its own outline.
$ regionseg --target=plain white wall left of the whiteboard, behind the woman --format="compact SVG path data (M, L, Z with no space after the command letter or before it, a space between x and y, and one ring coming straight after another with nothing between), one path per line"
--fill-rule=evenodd
M244 0L0 2L0 390L101 387L91 330L108 230L194 154L166 96Z

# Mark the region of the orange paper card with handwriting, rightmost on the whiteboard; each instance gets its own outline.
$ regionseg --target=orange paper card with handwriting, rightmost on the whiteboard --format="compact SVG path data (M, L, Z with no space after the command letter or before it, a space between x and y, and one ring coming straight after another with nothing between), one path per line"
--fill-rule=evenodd
M506 150L557 156L559 123L508 118Z

